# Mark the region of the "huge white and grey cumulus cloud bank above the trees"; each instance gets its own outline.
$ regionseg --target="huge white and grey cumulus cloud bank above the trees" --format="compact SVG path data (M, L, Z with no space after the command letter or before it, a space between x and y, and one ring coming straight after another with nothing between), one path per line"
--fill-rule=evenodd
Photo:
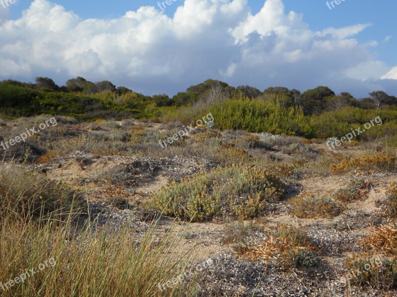
M63 84L83 76L148 95L171 95L208 78L262 90L397 92L379 79L390 66L370 54L377 44L354 39L371 24L313 31L303 19L285 12L282 0L266 0L255 15L247 0L185 0L172 18L143 6L116 19L86 20L34 0L17 20L1 23L0 15L0 79L47 76Z

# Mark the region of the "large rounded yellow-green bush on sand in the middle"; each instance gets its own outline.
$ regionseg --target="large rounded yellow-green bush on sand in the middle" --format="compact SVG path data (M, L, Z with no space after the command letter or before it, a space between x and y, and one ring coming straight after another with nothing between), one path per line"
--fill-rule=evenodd
M229 167L173 183L153 196L165 215L201 221L219 216L256 217L280 198L284 184L267 170Z

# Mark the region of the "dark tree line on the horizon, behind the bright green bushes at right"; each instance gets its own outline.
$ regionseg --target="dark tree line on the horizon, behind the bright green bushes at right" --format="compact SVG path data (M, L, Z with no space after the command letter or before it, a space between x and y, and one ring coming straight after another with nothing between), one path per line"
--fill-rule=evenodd
M319 86L301 93L285 87L269 87L264 91L251 86L229 86L227 83L208 79L193 85L185 92L173 97L166 94L144 96L127 87L116 87L110 81L90 82L83 77L66 81L58 86L51 78L37 77L35 83L23 83L14 80L0 82L0 112L9 116L27 116L42 112L62 114L88 114L88 117L100 117L107 112L123 115L123 112L146 117L153 116L156 107L184 106L195 104L202 98L207 103L216 100L247 99L272 100L277 95L285 107L299 106L305 115L319 115L327 111L337 112L343 107L362 109L381 109L384 106L397 106L397 98L383 91L369 93L369 97L356 99L350 93L335 94L330 88ZM212 101L208 101L212 98ZM19 109L17 109L19 108Z

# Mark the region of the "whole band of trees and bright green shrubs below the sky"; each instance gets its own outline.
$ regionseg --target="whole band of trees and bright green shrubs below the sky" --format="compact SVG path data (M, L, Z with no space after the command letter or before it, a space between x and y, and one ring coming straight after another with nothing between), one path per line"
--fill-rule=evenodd
M327 87L301 94L298 90L272 87L264 92L250 86L231 87L206 80L174 97L144 96L109 81L92 83L82 77L59 87L49 78L38 77L36 84L0 82L0 114L4 117L41 113L74 116L79 119L134 117L165 122L194 124L211 112L218 129L269 132L306 138L342 137L380 117L375 125L355 140L384 140L397 144L397 98L384 92L356 100L349 93L336 96ZM388 142L388 143L386 143Z

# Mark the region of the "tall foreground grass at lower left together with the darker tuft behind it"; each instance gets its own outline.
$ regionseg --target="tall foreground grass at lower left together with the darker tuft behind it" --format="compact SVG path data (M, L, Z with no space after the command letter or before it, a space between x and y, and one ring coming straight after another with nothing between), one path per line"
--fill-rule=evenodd
M1 296L194 294L188 282L178 282L164 291L157 286L186 270L189 252L174 259L180 230L173 227L165 234L158 233L158 219L143 234L131 230L130 222L118 228L99 225L95 220L91 222L89 213L82 217L85 221L76 220L73 200L69 207L58 203L60 197L72 199L67 196L69 190L57 183L48 183L46 177L29 171L21 175L18 170L13 164L8 171L0 173ZM35 204L36 198L48 203ZM38 271L40 264L52 258L54 265ZM37 274L10 286L10 280L30 269L38 271Z

